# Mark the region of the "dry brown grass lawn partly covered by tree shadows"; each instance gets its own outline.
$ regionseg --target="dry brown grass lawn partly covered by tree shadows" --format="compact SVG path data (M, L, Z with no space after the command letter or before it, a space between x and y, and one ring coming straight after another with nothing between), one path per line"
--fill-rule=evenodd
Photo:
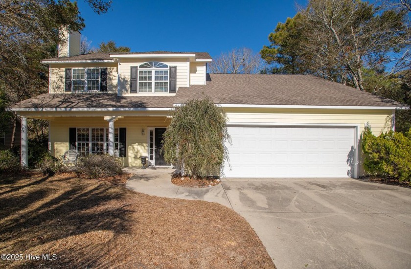
M0 268L274 268L250 225L217 203L152 197L66 174L0 178Z

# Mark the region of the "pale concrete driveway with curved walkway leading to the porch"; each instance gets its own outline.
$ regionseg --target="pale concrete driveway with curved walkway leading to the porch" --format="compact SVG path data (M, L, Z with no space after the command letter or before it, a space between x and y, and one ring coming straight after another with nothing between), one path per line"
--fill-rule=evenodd
M356 179L222 179L183 188L170 169L137 169L127 187L231 207L278 269L411 268L411 189Z

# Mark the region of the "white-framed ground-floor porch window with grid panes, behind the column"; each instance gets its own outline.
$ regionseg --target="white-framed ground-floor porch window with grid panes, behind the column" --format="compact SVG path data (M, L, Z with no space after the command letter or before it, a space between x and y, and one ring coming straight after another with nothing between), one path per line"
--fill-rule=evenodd
M118 152L118 128L114 128L114 151ZM76 149L81 156L109 152L109 128L77 128Z

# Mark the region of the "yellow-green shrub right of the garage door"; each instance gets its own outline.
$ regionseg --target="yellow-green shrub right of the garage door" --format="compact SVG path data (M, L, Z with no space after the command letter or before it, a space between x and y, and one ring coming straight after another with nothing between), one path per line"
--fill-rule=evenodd
M375 136L369 128L363 133L364 169L373 176L411 181L411 129Z

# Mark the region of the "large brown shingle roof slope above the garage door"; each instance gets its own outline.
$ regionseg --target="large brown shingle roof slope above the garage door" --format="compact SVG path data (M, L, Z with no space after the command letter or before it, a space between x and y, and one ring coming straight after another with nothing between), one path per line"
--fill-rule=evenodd
M220 104L401 106L387 98L311 75L210 74L206 85L179 88L175 103L204 94Z

